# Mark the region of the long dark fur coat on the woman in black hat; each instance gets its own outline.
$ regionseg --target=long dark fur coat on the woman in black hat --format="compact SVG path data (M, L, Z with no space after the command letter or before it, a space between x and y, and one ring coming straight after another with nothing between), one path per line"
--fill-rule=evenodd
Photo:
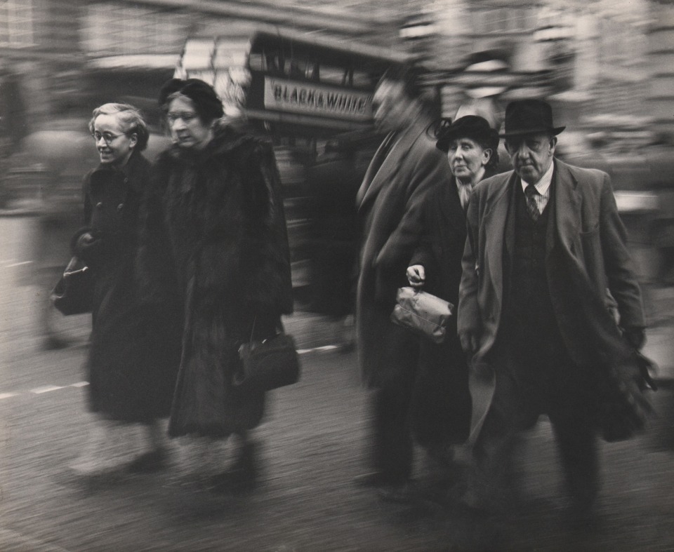
M272 147L218 121L203 150L175 146L161 154L156 182L141 255L148 296L177 297L185 313L169 433L224 437L251 429L264 393L232 385L237 351L251 335L273 335L293 308Z

